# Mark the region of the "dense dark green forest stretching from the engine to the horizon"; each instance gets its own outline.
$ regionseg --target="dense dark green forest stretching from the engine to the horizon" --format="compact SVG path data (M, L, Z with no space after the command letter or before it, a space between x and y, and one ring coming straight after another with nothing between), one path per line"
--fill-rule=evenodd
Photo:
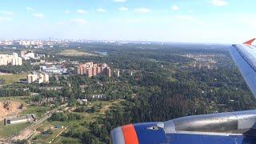
M84 143L109 143L110 130L129 123L164 122L187 115L254 109L255 99L224 47L102 46L99 51L107 51L106 57L74 58L140 71L103 81L95 78L101 82L122 82L121 87L111 83L117 91L110 91L108 98L126 101L112 106L104 117L91 122L89 130L69 130L66 137L78 138ZM87 46L84 50L91 49ZM190 67L194 59L183 54L214 55L216 63L212 69ZM78 79L74 83L82 81Z

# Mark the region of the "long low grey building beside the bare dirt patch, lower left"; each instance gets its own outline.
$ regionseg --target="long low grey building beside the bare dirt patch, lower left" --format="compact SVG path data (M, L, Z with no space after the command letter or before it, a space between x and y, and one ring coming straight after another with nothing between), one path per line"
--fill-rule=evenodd
M26 123L26 122L35 122L36 117L34 114L22 115L22 116L14 116L4 119L5 125L13 125L18 123Z

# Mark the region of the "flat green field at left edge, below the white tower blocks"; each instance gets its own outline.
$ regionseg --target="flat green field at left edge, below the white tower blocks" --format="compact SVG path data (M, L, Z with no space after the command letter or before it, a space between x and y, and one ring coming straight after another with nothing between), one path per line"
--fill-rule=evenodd
M9 85L12 83L18 82L20 79L26 78L26 74L7 74L7 75L1 75L0 79L4 80L3 85Z

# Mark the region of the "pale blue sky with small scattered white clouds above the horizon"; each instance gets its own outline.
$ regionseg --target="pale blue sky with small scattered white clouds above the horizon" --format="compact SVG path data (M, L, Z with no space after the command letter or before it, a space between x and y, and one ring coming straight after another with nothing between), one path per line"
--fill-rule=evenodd
M0 38L243 42L256 1L1 0Z

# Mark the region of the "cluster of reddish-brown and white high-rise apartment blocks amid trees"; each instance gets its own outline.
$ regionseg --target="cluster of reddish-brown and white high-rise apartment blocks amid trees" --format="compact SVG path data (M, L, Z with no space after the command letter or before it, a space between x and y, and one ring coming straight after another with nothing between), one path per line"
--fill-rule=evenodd
M85 74L88 78L98 74L106 74L107 77L111 77L111 69L106 63L86 62L77 66L77 74Z

